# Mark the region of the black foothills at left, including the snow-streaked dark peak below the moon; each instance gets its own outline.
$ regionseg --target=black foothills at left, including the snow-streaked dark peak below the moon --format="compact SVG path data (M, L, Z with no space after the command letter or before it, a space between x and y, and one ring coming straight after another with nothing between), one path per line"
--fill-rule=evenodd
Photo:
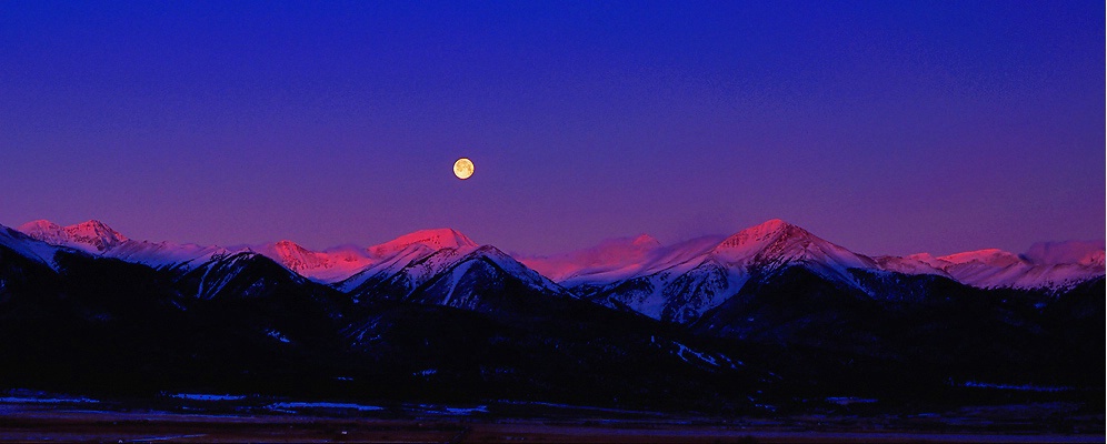
M634 408L748 408L717 391L767 389L761 371L674 352L728 362L695 337L545 293L548 280L491 248L412 301L359 303L255 253L156 270L60 250L56 270L20 253L32 250L0 245L0 382L14 386ZM450 294L477 305L435 299Z

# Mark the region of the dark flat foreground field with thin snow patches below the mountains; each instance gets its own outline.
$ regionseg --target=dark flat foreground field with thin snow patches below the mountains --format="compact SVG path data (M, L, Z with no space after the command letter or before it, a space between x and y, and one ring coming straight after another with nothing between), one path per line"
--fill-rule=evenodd
M210 404L210 402L209 402ZM0 402L3 442L752 443L1103 442L1104 416L1060 403L906 415L695 417L570 407L236 402L163 408L72 400ZM273 408L277 405L280 408ZM490 414L513 410L515 417ZM1066 414L1065 412L1070 412ZM1041 417L1054 425L1043 427ZM1063 431L1063 432L1058 432Z

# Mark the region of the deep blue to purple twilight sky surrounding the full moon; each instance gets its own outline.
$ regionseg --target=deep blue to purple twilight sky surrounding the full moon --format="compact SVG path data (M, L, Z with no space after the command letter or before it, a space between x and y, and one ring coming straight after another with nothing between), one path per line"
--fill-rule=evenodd
M772 218L868 254L1103 239L1104 16L2 1L0 224L313 249L451 226L538 254Z

